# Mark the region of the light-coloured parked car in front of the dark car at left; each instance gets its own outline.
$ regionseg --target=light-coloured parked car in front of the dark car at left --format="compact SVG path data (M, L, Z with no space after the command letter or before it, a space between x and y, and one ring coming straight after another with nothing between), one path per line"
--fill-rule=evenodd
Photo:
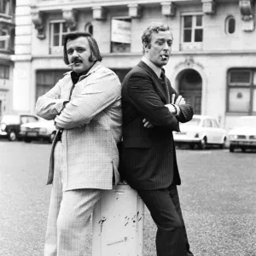
M53 120L40 119L38 122L20 125L20 137L26 143L39 140L52 143L55 133L56 128Z

